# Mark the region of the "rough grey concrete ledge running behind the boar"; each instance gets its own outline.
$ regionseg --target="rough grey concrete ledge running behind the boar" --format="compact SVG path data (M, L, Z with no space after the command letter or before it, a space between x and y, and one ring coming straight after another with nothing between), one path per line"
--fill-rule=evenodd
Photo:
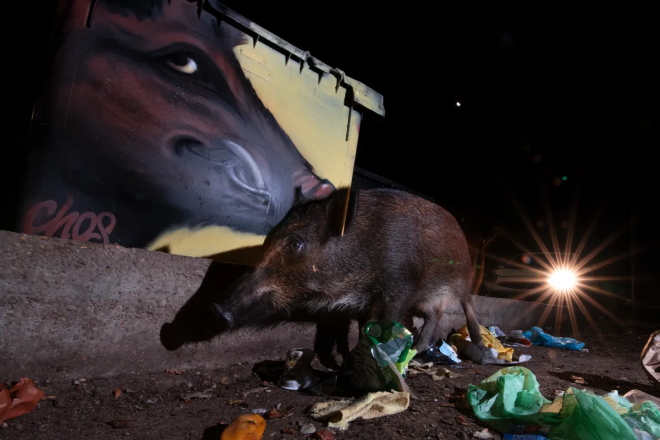
M214 337L208 304L241 270L200 258L0 231L0 379L219 368L311 347L309 325ZM482 324L505 330L537 324L547 308L475 299ZM443 334L464 323L462 310L452 305L442 319Z

